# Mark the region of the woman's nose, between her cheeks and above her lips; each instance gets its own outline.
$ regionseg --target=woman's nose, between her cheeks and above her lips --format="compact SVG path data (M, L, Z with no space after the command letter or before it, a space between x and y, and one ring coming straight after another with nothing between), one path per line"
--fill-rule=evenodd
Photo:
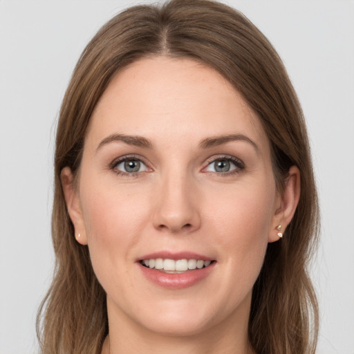
M188 233L201 226L196 188L187 176L168 174L156 190L153 226L174 234Z

